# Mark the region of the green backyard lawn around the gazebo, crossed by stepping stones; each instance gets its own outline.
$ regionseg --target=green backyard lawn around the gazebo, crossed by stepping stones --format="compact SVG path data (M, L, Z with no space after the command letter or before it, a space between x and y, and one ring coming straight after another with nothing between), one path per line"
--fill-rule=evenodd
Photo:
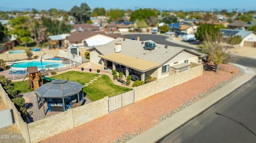
M84 85L90 80L98 77L98 74L87 73L87 72L78 72L78 71L69 71L59 75L51 77L52 79L66 79L70 81L77 81ZM22 92L28 92L27 81L24 82L13 82L15 89ZM102 75L101 78L91 83L88 87L84 88L86 96L92 101L99 100L105 96L115 96L126 91L130 91L130 88L116 86L107 75Z

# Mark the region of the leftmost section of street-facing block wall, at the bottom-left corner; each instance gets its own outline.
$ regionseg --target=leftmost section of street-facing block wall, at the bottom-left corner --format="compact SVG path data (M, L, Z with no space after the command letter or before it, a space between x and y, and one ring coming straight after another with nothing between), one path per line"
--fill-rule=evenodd
M28 124L30 142L40 142L44 139L74 128L73 111L70 109L56 115Z

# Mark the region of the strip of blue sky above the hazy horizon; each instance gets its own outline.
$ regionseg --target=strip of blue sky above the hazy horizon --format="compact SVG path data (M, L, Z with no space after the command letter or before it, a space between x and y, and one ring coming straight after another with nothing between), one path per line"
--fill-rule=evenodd
M255 0L0 0L0 7L8 8L35 8L42 9L64 9L70 10L74 5L87 3L91 8L104 7L105 9L133 9L156 8L159 10L213 10L213 9L239 9L256 10Z

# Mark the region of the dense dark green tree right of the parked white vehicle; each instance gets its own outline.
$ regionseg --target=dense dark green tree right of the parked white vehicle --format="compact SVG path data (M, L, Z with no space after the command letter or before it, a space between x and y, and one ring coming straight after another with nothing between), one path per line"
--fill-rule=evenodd
M218 33L220 33L220 29L215 27L214 24L205 23L205 24L201 24L197 28L195 36L196 36L197 40L203 41L203 40L205 40L206 35L209 35L210 38L215 39L215 35L217 35Z

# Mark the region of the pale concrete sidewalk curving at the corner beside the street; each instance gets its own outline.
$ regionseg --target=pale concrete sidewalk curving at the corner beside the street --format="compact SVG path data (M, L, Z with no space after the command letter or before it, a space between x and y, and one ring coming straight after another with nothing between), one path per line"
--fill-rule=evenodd
M178 129L183 124L186 124L189 120L193 119L198 114L201 114L202 112L207 110L207 108L211 107L213 104L226 97L232 91L241 87L242 85L244 85L244 83L254 77L255 73L252 70L241 65L236 64L236 66L239 66L240 68L243 68L245 70L245 74L242 77L239 77L236 80L228 83L221 89L213 92L204 99L201 99L198 102L190 105L185 110L174 114L169 119L166 119L162 123L155 125L155 127L149 129L148 131L140 134L139 136L131 139L128 142L156 142L170 132Z

